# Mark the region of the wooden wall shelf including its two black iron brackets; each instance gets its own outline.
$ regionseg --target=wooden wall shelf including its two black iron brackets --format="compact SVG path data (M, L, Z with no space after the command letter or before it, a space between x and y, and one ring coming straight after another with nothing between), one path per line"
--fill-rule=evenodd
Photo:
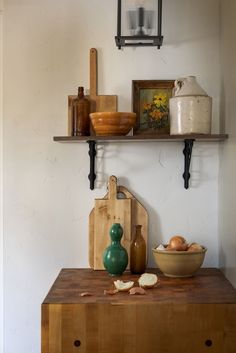
M188 189L190 179L190 163L192 156L193 143L197 142L220 142L228 138L227 134L209 134L209 135L134 135L134 136L54 136L53 140L57 142L87 142L89 144L90 157L90 173L88 175L90 181L90 189L94 189L95 174L95 158L97 143L117 143L117 142L184 142L184 187Z

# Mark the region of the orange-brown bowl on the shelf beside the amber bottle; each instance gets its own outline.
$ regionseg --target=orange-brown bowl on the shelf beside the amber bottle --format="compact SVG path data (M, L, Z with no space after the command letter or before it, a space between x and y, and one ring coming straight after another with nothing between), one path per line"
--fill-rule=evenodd
M95 112L90 120L97 136L124 136L134 127L136 113Z

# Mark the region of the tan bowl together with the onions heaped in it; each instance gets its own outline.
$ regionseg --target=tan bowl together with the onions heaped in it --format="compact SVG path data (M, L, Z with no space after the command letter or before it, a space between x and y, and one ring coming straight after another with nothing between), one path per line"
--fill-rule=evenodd
M169 244L152 249L157 267L167 277L192 277L203 264L207 248L181 238L184 241L173 237Z

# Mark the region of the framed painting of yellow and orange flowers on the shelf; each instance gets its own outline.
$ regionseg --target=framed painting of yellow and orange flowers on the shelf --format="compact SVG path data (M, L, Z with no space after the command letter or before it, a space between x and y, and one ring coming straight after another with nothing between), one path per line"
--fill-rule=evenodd
M174 80L132 81L135 135L170 133L169 99L173 88Z

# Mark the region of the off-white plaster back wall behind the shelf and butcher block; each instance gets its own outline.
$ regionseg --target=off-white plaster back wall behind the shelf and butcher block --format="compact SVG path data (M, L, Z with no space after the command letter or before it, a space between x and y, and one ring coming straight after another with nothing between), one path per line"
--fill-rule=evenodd
M99 91L118 94L119 110L131 109L132 79L196 75L213 97L218 131L219 2L200 2L165 0L160 51L119 51L116 1L6 0L4 353L40 352L40 304L62 267L88 266L88 215L111 174L146 206L149 250L180 233L208 247L205 266L218 266L217 143L195 144L188 191L181 143L99 146L90 191L87 144L53 142L67 131L67 96L88 88L91 47Z

